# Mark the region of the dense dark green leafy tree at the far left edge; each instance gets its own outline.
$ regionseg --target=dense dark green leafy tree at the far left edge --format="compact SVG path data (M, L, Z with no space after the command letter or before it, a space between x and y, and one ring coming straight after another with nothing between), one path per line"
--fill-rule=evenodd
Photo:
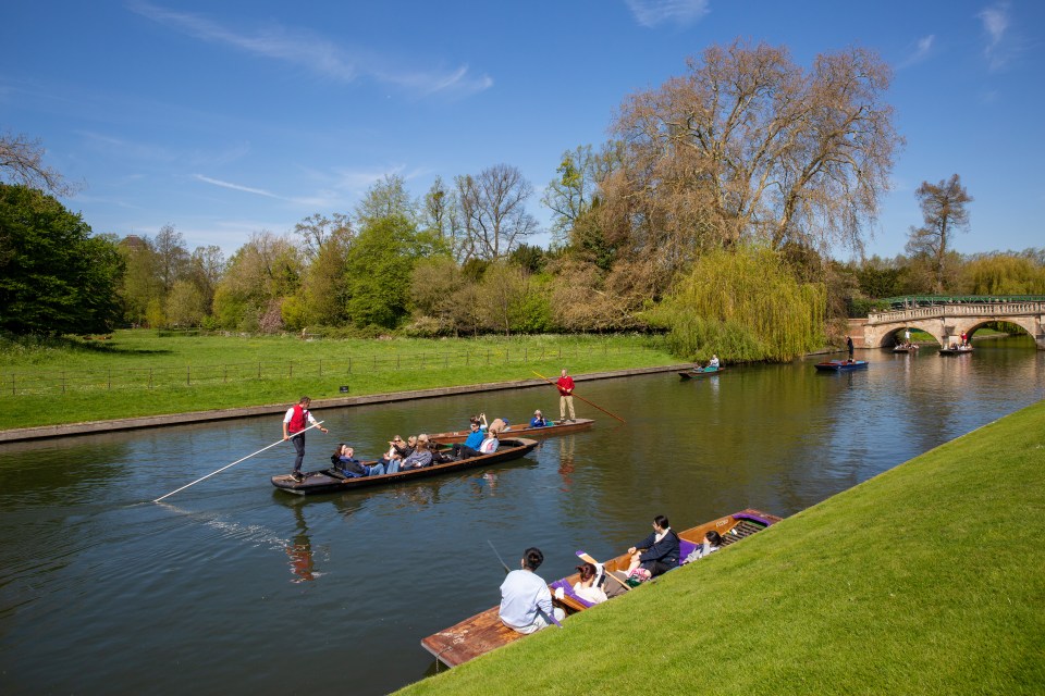
M104 333L120 316L123 263L114 239L53 197L0 184L0 330Z

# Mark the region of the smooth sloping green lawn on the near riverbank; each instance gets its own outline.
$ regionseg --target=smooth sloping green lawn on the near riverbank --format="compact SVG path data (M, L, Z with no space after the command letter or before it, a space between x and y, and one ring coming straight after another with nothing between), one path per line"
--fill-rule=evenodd
M401 693L1041 694L1043 513L1038 402Z

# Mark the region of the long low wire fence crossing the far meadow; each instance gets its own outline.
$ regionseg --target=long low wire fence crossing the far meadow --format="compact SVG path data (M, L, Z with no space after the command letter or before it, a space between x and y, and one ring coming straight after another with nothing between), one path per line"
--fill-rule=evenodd
M577 356L629 355L642 348L591 346L487 348L418 355L348 356L335 359L239 362L213 365L102 368L96 370L47 370L0 373L0 397L40 396L70 391L114 391L232 384L245 381L279 381L349 377L395 371L448 370L569 360Z

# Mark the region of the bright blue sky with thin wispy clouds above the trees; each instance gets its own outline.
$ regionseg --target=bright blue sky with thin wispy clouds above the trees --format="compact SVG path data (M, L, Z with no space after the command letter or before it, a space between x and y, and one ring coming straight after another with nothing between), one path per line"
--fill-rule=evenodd
M385 174L420 196L502 162L546 223L565 150L606 140L627 95L742 37L807 67L852 45L894 66L907 146L869 253L902 252L914 189L954 173L975 198L955 248L1045 247L1038 0L40 0L2 16L0 130L40 138L86 184L64 202L98 233L172 224L190 249L232 253L253 232L351 213Z

